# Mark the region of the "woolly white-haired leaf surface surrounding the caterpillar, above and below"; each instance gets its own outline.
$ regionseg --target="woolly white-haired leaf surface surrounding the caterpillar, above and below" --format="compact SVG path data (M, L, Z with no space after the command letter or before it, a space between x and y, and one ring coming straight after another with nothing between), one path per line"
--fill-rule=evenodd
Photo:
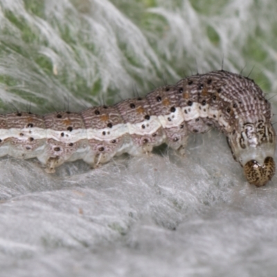
M276 10L0 0L1 112L112 105L222 66L250 74L276 112ZM191 135L185 157L162 147L95 170L3 157L0 276L276 276L276 199L277 177L249 185L217 131Z

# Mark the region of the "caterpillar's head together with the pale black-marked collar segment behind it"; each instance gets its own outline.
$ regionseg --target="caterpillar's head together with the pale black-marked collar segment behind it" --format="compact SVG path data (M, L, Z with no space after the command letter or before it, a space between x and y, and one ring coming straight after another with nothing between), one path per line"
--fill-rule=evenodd
M233 157L242 166L250 184L265 186L275 174L274 128L265 120L257 120L256 123L240 124L238 129L227 137Z

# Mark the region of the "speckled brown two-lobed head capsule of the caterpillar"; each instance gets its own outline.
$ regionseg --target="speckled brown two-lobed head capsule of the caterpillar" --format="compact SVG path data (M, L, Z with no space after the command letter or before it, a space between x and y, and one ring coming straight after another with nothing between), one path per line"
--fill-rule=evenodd
M243 166L244 175L250 184L265 186L274 176L275 162L272 157L266 157L263 163L251 160Z

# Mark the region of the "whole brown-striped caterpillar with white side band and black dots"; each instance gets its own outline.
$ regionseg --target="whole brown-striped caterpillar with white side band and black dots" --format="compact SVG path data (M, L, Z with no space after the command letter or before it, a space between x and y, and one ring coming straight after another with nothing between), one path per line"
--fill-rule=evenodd
M78 159L96 167L125 152L148 154L162 143L184 154L191 132L215 127L226 135L247 181L264 186L275 173L271 118L271 105L253 80L212 71L159 87L144 98L80 113L1 114L0 157L37 158L49 173Z

